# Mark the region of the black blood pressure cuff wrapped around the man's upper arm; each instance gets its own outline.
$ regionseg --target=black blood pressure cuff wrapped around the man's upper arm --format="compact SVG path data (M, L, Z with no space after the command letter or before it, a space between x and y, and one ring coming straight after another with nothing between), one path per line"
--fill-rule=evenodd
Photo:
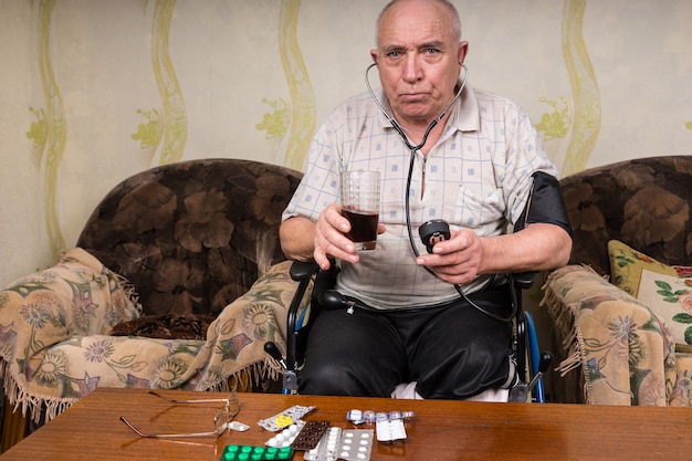
M533 179L534 184L528 195L528 201L514 224L514 231L524 229L526 224L543 222L559 226L572 237L569 216L557 178L543 171L536 171Z

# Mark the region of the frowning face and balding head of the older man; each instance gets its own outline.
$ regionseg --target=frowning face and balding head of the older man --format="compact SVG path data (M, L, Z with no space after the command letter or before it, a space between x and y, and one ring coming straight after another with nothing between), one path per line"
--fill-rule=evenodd
M447 9L437 2L402 1L379 23L371 50L395 117L424 126L454 97L468 43L457 41Z

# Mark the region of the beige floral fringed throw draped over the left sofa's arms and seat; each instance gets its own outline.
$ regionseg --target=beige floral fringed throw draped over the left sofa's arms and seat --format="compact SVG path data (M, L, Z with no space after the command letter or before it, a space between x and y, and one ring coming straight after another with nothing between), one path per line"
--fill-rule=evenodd
M75 248L50 269L0 291L0 376L14 407L39 421L54 418L97 387L223 389L250 370L280 373L264 352L285 349L285 319L295 292L290 262L271 268L229 304L206 340L111 336L139 318L132 287Z

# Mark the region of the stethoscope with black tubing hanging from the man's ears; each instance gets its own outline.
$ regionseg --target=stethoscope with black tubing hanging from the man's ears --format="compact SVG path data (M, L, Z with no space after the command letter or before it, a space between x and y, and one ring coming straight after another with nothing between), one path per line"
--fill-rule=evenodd
M442 113L438 117L436 117L432 122L430 122L430 125L428 125L428 128L426 128L426 132L423 133L423 137L422 137L421 142L418 145L416 145L416 146L409 140L409 138L406 135L403 128L401 128L401 125L399 125L399 123L394 118L392 115L387 113L387 111L385 109L382 104L377 99L377 96L375 95L375 92L373 91L373 86L370 85L370 78L368 76L369 76L369 73L370 73L370 69L377 66L377 63L373 63L373 64L368 65L368 67L365 70L365 84L366 84L366 86L368 88L368 92L370 93L370 97L373 98L373 101L375 102L377 107L380 109L380 112L382 113L385 118L387 118L387 121L389 121L389 123L391 124L394 129L397 130L397 133L401 137L401 140L403 142L403 144L406 144L406 147L408 147L410 149L410 151L411 151L411 157L410 157L410 163L409 163L409 172L408 172L408 178L406 180L406 227L407 227L407 230L408 230L408 237L409 237L409 242L410 242L410 245L411 245L411 250L413 250L413 254L416 254L416 258L420 256L420 252L418 251L418 247L416 245L416 241L413 239L413 226L411 224L411 207L410 207L411 178L413 176L413 166L416 164L416 151L418 151L418 150L423 148L423 146L428 142L428 135L430 135L430 132L432 132L432 128L434 128L437 126L437 124L439 124L440 121L442 118L444 118L444 116L447 115L449 109L452 108L452 106L457 103L457 101L461 96L461 93L463 92L464 87L466 86L466 81L469 80L469 67L466 67L466 64L464 64L463 62L460 62L459 64L464 69L464 75L463 75L463 78L461 81L461 85L459 86L459 91L457 92L457 94L454 95L452 101L447 105L447 107L444 107ZM433 276L437 277L436 273L430 268L423 266L423 269L426 271L428 271L430 274L432 274ZM494 319L500 321L500 322L511 322L512 318L514 318L514 316L516 315L516 313L515 313L516 307L512 310L511 316L508 316L508 317L502 317L502 316L495 315L492 312L489 312L489 311L484 310L483 307L479 306L473 301L469 300L466 294L463 292L461 286L459 286L458 284L454 284L454 289L457 289L457 292L461 295L461 297L464 301L466 301L473 307L475 307L476 310L479 310L483 314L490 316L491 318L494 318Z

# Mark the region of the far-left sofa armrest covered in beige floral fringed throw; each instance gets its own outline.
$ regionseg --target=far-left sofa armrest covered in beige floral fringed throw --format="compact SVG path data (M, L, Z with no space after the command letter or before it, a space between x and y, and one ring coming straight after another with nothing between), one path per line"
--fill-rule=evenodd
M2 287L0 377L9 402L21 406L24 415L30 409L38 421L41 401L53 399L61 389L74 394L65 375L67 359L51 356L52 347L76 337L107 334L113 325L137 317L140 308L133 297L119 276L80 248L61 253L52 268ZM46 415L69 405L59 400Z

